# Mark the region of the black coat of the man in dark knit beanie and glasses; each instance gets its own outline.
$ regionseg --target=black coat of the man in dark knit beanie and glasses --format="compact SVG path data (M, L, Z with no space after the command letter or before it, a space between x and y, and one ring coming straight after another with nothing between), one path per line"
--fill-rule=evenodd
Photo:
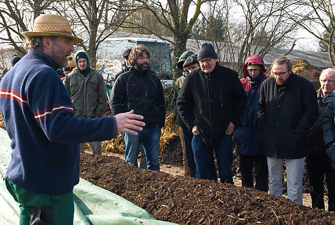
M238 74L216 63L206 74L197 69L189 73L177 97L177 109L188 129L197 126L203 142L217 145L230 122L237 124L246 103Z

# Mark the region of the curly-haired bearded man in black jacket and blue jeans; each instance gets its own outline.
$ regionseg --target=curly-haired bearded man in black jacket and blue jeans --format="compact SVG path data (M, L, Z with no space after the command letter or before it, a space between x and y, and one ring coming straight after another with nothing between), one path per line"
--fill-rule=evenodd
M165 124L165 101L159 78L149 68L150 51L135 46L129 55L130 68L115 81L109 106L114 115L133 110L144 117L145 127L137 136L123 134L125 161L137 166L139 145L143 143L147 169L159 170L160 128Z

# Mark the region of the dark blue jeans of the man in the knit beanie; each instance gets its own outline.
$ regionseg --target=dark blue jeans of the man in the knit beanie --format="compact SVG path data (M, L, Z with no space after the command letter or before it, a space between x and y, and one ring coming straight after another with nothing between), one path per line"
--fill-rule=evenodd
M233 184L231 165L232 165L232 137L225 135L223 140L214 147L203 143L200 135L193 135L192 149L196 165L195 177L202 179L210 178L210 164L213 151L215 151L218 175L220 182Z

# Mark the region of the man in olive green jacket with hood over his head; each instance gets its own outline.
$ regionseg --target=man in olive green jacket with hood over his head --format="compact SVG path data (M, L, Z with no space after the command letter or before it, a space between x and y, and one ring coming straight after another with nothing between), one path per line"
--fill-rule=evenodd
M63 83L72 98L75 115L79 118L100 118L107 106L107 94L102 75L89 66L87 52L74 57L76 68L66 75ZM101 155L101 141L90 142L93 154ZM80 143L83 151L84 143Z

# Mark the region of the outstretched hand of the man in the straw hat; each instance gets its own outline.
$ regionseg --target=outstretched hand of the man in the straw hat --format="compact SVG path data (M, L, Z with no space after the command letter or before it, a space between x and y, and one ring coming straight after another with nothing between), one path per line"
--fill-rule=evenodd
M137 132L134 130L143 130L143 126L145 126L144 122L138 121L142 120L143 116L134 114L133 110L117 114L115 119L118 133L126 132L132 135L137 135Z

